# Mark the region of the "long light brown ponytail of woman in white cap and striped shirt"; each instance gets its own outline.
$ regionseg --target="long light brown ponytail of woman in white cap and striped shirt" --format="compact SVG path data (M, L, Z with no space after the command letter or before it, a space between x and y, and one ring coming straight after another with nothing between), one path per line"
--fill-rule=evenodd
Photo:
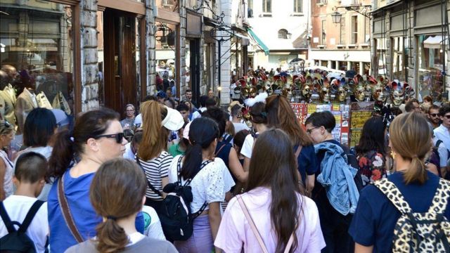
M151 160L165 150L169 130L161 122L167 116L167 109L157 101L146 101L141 105L142 141L138 150L138 157Z

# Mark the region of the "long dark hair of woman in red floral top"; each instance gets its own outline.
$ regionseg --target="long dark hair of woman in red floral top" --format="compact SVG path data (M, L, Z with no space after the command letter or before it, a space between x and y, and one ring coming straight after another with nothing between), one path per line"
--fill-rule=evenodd
M386 155L385 129L386 125L382 117L367 119L361 132L361 138L359 138L359 144L355 147L356 154L363 155L375 150L383 156Z

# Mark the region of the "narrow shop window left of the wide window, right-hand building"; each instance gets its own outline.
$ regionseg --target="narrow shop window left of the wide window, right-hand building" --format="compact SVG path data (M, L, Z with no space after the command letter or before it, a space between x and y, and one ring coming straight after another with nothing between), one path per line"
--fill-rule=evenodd
M405 58L408 57L405 49L408 47L408 39L392 38L392 79L404 82L408 78L408 67L405 62Z

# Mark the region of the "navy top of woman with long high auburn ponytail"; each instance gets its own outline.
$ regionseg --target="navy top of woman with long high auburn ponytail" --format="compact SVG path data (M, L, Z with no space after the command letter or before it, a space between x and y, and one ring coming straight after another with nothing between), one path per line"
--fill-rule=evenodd
M294 146L294 153L297 151L298 145ZM305 184L307 175L314 175L320 169L317 162L317 156L314 152L314 145L307 145L302 148L300 155L297 157L298 171L302 176L302 182Z

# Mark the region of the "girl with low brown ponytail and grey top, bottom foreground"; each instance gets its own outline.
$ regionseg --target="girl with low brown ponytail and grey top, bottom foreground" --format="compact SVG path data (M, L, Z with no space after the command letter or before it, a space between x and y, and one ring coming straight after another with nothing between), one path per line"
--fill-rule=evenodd
M92 179L89 199L103 222L97 236L66 252L176 252L172 244L136 231L134 220L146 200L147 182L136 163L124 158L101 165ZM114 190L111 190L114 189Z

